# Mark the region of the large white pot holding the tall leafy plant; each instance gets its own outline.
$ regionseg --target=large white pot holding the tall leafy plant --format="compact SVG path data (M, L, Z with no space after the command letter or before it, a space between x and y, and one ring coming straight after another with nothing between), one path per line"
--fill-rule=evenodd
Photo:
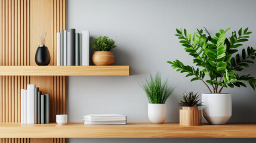
M232 116L231 94L202 94L202 116L209 124L226 124Z

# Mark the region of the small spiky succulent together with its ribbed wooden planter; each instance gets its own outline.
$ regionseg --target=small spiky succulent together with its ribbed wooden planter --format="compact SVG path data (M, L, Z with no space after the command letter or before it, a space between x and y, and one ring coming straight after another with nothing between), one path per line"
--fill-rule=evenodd
M202 106L202 102L199 101L198 93L186 92L181 97L180 105L180 125L181 126L200 126L202 124L201 110L198 110L199 106Z

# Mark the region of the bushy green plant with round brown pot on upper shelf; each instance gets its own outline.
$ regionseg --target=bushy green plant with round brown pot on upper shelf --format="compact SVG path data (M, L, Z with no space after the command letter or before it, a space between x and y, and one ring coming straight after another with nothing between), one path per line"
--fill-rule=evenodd
M115 55L112 52L116 48L115 41L107 36L99 36L97 39L93 39L92 43L95 49L92 62L96 66L111 66L115 63Z

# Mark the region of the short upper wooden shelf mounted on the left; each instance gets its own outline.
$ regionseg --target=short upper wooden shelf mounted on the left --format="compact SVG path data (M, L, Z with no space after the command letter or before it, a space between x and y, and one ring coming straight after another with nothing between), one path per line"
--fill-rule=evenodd
M129 66L0 66L0 76L129 76Z

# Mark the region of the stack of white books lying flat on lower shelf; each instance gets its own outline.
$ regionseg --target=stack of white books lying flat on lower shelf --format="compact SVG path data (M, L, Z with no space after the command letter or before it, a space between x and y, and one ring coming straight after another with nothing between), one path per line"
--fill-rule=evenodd
M126 125L127 117L121 114L88 114L82 116L85 125Z

